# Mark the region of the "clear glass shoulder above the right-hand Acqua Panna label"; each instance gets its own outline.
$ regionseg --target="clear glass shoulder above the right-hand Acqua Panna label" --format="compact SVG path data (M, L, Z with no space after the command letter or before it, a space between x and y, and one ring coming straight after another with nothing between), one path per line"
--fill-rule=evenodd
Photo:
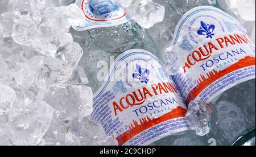
M161 57L164 50L171 46L176 25L187 11L198 6L213 6L234 16L225 0L216 0L216 3L208 0L154 0L153 2L163 5L166 11L162 22L156 23L153 27L147 29L148 34L158 46Z

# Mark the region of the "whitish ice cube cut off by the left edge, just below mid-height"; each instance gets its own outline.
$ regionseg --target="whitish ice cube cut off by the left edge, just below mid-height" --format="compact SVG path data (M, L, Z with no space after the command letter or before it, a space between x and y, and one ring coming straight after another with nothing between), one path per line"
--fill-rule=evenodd
M13 107L16 93L10 86L0 82L0 115L6 114Z

